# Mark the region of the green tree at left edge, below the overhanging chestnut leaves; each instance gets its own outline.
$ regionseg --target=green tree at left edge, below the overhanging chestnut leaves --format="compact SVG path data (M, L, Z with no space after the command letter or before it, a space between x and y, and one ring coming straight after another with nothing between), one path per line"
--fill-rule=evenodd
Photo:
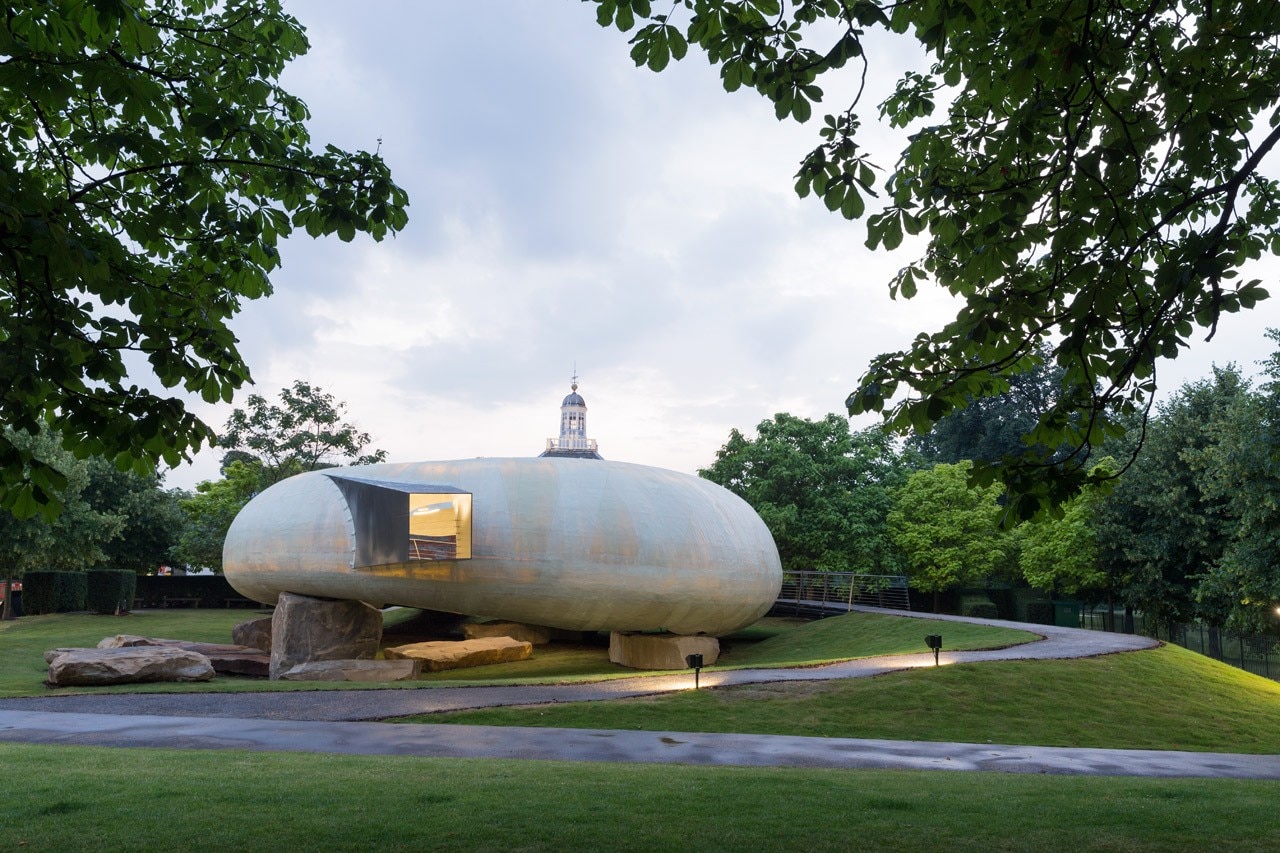
M55 519L40 515L19 519L0 512L0 575L6 590L3 617L9 620L14 613L8 590L15 580L32 570L78 571L99 562L124 519L101 512L84 500L88 464L64 451L55 435L47 430L31 434L5 428L4 438L56 471L63 483L56 496L63 511Z

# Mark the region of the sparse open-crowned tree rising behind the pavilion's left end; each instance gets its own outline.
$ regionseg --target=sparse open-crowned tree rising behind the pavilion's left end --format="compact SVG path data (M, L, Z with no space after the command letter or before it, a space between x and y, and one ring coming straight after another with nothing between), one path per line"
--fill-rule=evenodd
M232 460L260 466L260 488L301 471L385 460L387 451L364 452L369 433L346 423L346 411L347 403L333 394L294 380L280 389L279 403L251 394L246 409L232 412L218 443Z

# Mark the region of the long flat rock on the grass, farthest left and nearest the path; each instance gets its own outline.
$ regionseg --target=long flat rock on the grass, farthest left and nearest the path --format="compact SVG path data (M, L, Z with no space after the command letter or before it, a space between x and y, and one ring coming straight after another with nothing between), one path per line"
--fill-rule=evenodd
M207 681L209 658L172 646L73 648L49 663L49 686L136 684L142 681Z

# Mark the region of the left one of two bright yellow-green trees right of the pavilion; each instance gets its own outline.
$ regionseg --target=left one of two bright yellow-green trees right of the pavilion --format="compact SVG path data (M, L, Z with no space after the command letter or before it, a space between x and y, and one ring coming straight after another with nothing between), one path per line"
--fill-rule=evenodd
M1014 549L1014 534L1000 526L1000 489L973 485L970 462L938 464L915 471L893 494L888 535L906 555L911 587L940 594L986 580Z

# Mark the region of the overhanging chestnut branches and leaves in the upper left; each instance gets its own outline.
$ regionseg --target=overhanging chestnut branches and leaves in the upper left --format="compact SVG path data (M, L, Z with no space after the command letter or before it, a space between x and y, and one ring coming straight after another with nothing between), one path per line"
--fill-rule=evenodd
M250 379L227 324L270 293L280 238L404 227L383 160L312 146L278 85L306 50L279 0L6 5L0 423L122 469L175 465L212 432L151 388L230 401ZM56 515L65 484L0 437L0 507Z

